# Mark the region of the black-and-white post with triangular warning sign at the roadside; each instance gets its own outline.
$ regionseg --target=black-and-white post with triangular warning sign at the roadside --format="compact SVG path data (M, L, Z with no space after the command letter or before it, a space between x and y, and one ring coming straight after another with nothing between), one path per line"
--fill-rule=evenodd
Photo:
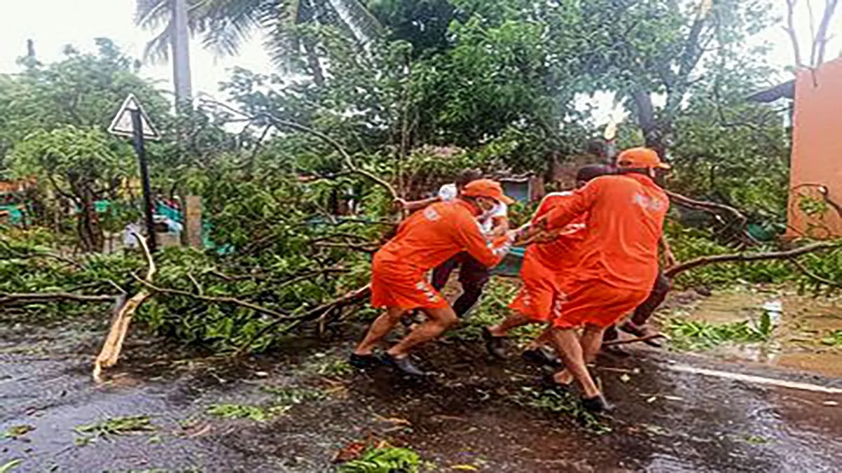
M134 95L125 98L123 106L109 126L109 133L117 136L130 136L135 145L137 161L141 168L143 185L143 215L147 221L147 246L150 252L157 250L155 221L152 208L152 189L149 184L149 162L147 161L146 140L159 140L161 135L152 126L146 112Z

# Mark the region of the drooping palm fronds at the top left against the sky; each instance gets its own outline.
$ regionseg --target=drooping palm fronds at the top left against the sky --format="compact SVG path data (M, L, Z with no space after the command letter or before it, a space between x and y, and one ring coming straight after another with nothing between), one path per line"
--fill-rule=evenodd
M173 4L187 2L187 26L203 45L221 56L237 54L255 32L266 35L269 56L289 71L290 59L303 47L317 84L323 81L316 44L296 34L296 25L333 24L360 43L381 33L381 24L360 0L136 0L136 24L163 30L148 44L145 56L168 59L172 45Z

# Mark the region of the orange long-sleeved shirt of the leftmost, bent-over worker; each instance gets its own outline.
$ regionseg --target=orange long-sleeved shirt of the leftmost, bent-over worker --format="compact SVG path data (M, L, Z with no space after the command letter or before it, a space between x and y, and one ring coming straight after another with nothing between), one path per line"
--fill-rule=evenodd
M488 243L482 236L477 210L457 199L429 205L410 215L398 227L397 235L377 253L384 261L425 272L457 252L468 252L490 268L508 251L508 241L498 241L496 247Z

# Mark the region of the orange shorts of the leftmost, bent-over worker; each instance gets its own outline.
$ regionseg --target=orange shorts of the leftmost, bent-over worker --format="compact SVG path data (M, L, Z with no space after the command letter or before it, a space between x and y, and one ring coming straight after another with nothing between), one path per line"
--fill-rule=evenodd
M450 306L427 281L424 271L374 255L371 265L371 305L401 309L443 309Z

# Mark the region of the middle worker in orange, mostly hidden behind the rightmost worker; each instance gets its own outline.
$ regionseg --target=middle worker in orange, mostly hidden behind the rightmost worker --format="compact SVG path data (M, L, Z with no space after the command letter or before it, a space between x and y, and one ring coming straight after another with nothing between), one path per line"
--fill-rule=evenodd
M577 187L581 189L591 179L613 173L612 167L600 164L580 167L576 173ZM527 226L535 224L558 202L572 196L570 191L547 194ZM529 323L551 322L553 303L561 294L564 281L573 276L573 268L579 263L578 248L587 234L586 217L579 215L562 229L536 235L532 242L521 242L529 245L520 267L524 286L509 305L515 312L503 322L482 331L486 349L495 358L504 358L504 340L509 330ZM523 353L524 359L536 364L557 365L558 360L543 348L547 342L545 337L536 338Z

